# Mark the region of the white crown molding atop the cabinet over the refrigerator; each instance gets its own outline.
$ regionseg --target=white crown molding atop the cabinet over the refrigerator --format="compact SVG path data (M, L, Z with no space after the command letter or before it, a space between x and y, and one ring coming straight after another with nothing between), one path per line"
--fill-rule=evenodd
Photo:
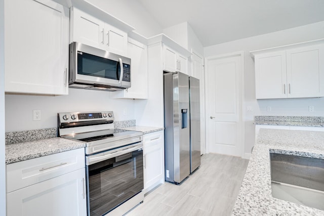
M176 41L174 41L173 39L171 39L170 37L168 37L167 35L165 35L163 33L157 34L155 36L148 38L148 45L152 45L157 42L163 42L164 44L171 47L174 51L180 53L181 55L183 55L185 57L191 56L191 52L189 50L180 46Z

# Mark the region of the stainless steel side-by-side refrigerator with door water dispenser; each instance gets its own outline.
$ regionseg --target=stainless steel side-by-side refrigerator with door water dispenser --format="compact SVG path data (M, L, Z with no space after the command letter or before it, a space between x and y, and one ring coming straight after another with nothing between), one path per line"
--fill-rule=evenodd
M164 74L165 176L179 184L200 165L199 80Z

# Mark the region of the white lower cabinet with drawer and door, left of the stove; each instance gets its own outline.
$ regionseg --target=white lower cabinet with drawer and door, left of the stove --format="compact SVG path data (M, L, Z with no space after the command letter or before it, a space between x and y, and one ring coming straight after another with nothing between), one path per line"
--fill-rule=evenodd
M7 165L7 216L87 215L84 149Z

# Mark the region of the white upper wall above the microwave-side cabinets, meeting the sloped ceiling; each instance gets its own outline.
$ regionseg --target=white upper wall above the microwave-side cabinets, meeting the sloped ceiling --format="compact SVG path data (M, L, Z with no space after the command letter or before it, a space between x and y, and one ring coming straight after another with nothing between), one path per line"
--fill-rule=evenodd
M162 32L160 24L138 1L88 0L88 2L133 26L137 33L145 37L151 37Z

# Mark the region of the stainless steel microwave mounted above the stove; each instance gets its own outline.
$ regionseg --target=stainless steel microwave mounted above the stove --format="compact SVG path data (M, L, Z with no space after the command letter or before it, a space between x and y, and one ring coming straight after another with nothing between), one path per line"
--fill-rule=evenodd
M69 46L69 87L119 91L131 87L131 59L72 42Z

